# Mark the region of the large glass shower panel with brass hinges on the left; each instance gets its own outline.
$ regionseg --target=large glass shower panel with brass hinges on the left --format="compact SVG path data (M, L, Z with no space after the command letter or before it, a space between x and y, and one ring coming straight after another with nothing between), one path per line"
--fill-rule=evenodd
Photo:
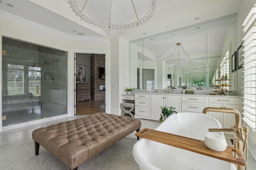
M68 52L2 38L3 126L66 114Z

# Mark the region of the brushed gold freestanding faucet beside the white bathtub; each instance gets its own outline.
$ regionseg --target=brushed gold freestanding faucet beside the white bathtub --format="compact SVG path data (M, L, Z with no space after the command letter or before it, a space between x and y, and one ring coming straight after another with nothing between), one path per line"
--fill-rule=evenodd
M204 108L203 113L207 114L208 111L232 113L235 115L235 125L231 126L230 129L209 129L209 131L215 131L215 132L216 131L224 131L224 132L233 131L234 132L234 148L239 149L241 153L244 153L244 150L246 149L246 155L247 155L248 147L243 147L242 141L244 141L244 145L248 146L248 143L247 143L248 127L241 127L240 112L236 109L206 107ZM246 161L247 161L247 158L246 158ZM237 169L242 170L242 167L238 166Z

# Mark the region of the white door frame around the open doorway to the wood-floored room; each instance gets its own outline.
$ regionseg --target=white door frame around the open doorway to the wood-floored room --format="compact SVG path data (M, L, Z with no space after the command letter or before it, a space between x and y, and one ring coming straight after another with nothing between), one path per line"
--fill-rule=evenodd
M68 116L74 116L76 112L76 98L75 98L75 92L74 89L76 89L76 76L75 76L75 66L76 62L74 60L75 53L88 53L88 54L104 54L105 55L105 112L109 113L110 108L110 74L109 74L109 68L110 68L110 62L108 62L108 51L102 51L102 50L89 50L89 49L70 49L70 58L69 58L69 64L68 64Z

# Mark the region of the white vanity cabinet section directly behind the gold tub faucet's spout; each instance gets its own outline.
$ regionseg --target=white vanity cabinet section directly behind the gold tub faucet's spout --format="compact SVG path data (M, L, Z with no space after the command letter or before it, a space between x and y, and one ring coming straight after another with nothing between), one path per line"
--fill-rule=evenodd
M230 108L240 111L240 97L209 97L209 107ZM235 115L232 113L209 112L209 115L217 119L223 128L235 125Z

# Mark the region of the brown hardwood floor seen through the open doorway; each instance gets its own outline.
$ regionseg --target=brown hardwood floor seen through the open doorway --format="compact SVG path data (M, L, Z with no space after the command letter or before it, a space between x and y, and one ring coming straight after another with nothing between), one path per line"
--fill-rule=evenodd
M92 115L105 112L105 99L76 102L76 115Z

